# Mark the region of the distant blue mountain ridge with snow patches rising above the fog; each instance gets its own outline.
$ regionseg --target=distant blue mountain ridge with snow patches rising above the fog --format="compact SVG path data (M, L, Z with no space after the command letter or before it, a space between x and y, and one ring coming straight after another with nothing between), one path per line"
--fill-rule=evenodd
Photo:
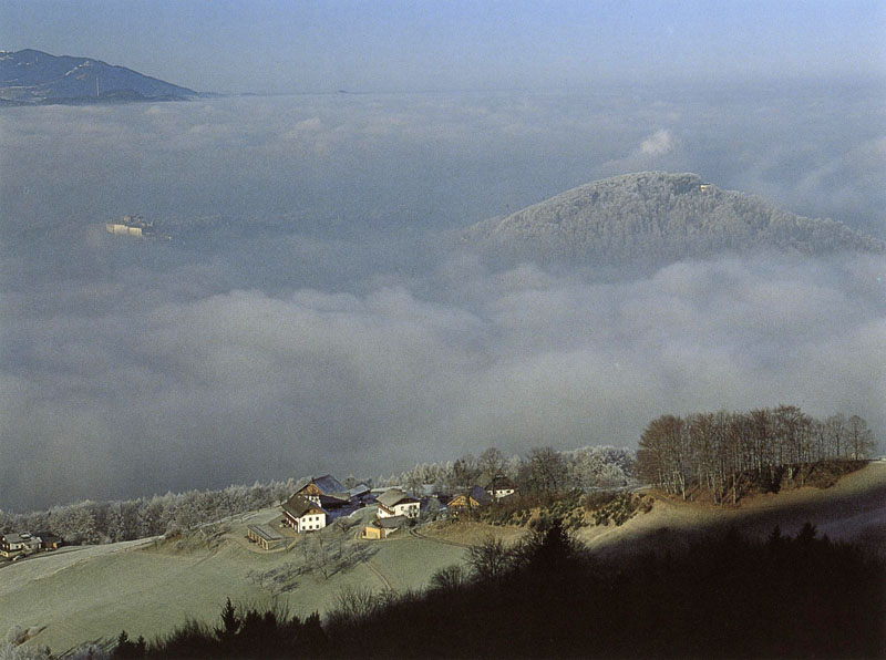
M0 51L0 102L4 104L172 101L196 94L93 58L56 56L32 49Z

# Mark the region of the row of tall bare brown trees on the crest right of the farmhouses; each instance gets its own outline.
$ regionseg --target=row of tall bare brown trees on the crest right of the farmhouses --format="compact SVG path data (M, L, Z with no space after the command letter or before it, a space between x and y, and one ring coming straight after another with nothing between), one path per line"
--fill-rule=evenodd
M743 475L789 478L820 461L859 461L877 443L858 415L837 413L818 420L795 405L749 412L662 415L649 422L637 452L638 475L668 493L686 497L691 485L710 489L714 502L731 492L738 499Z

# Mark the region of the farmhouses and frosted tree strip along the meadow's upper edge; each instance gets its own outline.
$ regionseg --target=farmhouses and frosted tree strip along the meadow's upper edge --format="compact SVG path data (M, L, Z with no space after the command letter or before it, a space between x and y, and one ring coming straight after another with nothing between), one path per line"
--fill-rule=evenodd
M0 536L8 540L0 567L62 545L70 551L73 546L175 538L265 509L278 515L244 533L256 550L290 547L305 533L340 518L349 529L360 525L356 539L381 540L402 536L416 517L456 520L468 512L474 518L517 508L524 497L539 493L624 487L633 483L632 463L632 451L611 446L565 452L536 447L526 457L505 457L490 447L478 456L465 454L454 462L423 463L399 475L362 481L348 475L342 483L327 474L126 501L83 501L28 513L0 511ZM501 506L490 506L496 502Z

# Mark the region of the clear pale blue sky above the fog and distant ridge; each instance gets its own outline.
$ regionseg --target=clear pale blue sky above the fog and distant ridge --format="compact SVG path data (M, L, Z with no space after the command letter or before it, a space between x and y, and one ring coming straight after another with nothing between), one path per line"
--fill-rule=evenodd
M879 78L886 3L0 0L0 48L224 92Z

